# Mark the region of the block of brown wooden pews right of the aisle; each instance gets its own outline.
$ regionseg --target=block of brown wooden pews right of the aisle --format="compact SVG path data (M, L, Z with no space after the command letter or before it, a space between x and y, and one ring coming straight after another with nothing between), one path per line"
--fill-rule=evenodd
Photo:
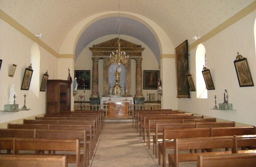
M161 109L147 111L138 110L134 111L133 118L135 130L140 134L144 142L147 143L149 149L151 148L151 141L153 141L153 153L156 155L156 158L158 158L159 165L162 166L166 166L167 157L169 166L175 167L178 166L178 162L197 161L198 154L201 155L201 153L198 153L198 150L202 150L203 153L206 152L206 154L212 156L216 154L224 155L256 152L255 150L248 150L252 149L252 146L256 146L256 128L254 126L235 127L235 122L216 122L216 118L204 118L204 116L195 116L193 113L184 113L171 109L163 111L161 111ZM240 135L253 136L250 140L248 138L249 136L244 136L244 140L242 140L243 136ZM174 154L168 154L169 151L167 152L167 150L172 149L175 151L175 147L176 149L178 148L177 141L180 139L190 141L190 144L182 144L187 146L184 147L184 150L188 150L189 153L184 154L184 156L182 156L183 158L177 160L177 157L181 154L179 154L178 151ZM229 140L229 144L227 144L227 139ZM211 145L210 141L212 140L213 144ZM215 142L215 140L217 142ZM197 144L203 143L202 141L205 141L206 145L197 146ZM241 141L250 142L245 146L236 144ZM209 143L208 146L207 143ZM220 143L225 144L220 145ZM241 149L241 147L245 150L237 151ZM179 148L183 150L183 147L180 146ZM216 148L224 148L224 151L218 153L212 152ZM232 148L232 151L228 151L228 148ZM193 150L195 150L195 153L192 153ZM201 161L202 159L203 158L201 158ZM200 163L200 160L198 161Z

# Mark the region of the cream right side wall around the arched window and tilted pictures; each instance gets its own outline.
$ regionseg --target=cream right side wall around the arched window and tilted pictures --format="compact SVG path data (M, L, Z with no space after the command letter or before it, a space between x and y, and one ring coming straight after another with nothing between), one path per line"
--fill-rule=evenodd
M208 90L207 99L197 99L196 92L190 92L191 99L178 99L178 109L220 118L239 123L256 125L256 87L239 87L233 61L239 52L247 57L254 83L256 82L256 56L254 41L254 22L256 12L224 29L206 42L207 67L211 71L215 90ZM196 48L190 50L189 71L196 82ZM203 68L202 68L203 69ZM228 102L233 104L233 111L211 110L218 103L223 103L224 90L228 92Z

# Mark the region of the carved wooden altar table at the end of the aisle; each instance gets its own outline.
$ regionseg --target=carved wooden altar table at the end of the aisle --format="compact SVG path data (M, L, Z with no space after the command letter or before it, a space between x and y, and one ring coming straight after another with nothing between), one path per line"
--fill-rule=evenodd
M108 103L108 118L128 118L128 104L129 102L123 101L123 102L112 102L109 101Z

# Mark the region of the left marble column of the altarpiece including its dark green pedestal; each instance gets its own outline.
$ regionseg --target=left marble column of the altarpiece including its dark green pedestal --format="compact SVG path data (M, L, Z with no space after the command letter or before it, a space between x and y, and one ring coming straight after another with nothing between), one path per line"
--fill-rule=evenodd
M90 97L91 105L99 105L99 97L97 92L99 91L99 58L92 57L92 94Z

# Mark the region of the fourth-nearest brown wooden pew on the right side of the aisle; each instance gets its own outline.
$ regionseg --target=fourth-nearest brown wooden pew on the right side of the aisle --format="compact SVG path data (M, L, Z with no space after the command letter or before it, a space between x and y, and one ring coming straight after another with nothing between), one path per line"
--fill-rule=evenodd
M163 123L161 121L154 121L154 120L150 120L150 121L156 125L155 135L153 135L153 153L155 149L156 158L158 158L158 140L163 138L163 135L162 135L163 129L210 128L210 127L234 127L235 126L235 122L194 122L194 123L172 124L172 123Z

